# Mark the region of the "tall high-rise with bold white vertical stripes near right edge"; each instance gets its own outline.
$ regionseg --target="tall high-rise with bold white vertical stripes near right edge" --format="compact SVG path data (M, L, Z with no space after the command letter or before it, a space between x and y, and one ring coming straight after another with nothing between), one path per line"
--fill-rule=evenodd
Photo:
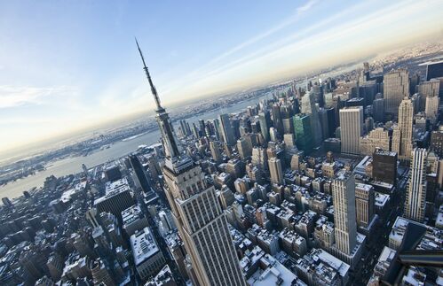
M426 200L426 149L415 148L411 152L411 166L407 182L405 217L423 222Z

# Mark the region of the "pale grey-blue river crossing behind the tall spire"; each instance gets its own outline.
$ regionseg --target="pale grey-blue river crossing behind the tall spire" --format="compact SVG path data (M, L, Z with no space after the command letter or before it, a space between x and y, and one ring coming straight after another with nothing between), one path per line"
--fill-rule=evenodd
M210 112L199 114L186 119L186 121L188 121L189 124L192 124L198 120L212 120L217 118L221 113L240 112L249 105L257 104L260 99L269 97L272 97L271 93L267 93L263 97L250 98L249 100L245 100L238 104L233 104L228 107L218 108ZM177 132L177 122L175 122L174 125ZM24 190L43 186L44 179L51 174L59 177L67 174L79 173L82 172L82 164L86 165L87 167L97 166L99 164L106 163L109 160L121 158L132 151L136 151L140 145L151 145L153 143L158 143L159 139L160 132L158 129L154 129L151 132L147 132L135 138L127 138L123 139L123 141L113 143L109 148L95 151L88 156L63 158L57 160L50 166L46 166L46 170L42 172L20 179L16 182L10 182L5 186L0 187L0 196L10 198L20 197Z

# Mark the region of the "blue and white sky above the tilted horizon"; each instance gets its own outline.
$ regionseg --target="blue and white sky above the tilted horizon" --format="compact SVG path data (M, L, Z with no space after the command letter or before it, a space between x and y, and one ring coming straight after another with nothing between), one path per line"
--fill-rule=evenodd
M262 86L425 35L443 0L0 0L0 155L136 112Z

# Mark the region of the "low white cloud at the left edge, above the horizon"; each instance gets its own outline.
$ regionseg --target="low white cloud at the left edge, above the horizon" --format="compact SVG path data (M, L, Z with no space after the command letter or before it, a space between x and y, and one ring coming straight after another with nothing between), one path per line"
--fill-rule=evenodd
M0 109L23 104L44 104L49 97L75 95L76 89L68 86L51 88L0 86Z

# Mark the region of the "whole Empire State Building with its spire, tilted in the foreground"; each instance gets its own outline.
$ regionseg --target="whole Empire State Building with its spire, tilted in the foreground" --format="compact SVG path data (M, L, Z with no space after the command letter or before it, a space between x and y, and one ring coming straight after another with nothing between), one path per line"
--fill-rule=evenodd
M169 115L160 103L139 47L138 51L154 96L156 120L162 133L166 196L191 258L197 283L201 286L247 285L216 191L203 180L202 168L181 154Z

